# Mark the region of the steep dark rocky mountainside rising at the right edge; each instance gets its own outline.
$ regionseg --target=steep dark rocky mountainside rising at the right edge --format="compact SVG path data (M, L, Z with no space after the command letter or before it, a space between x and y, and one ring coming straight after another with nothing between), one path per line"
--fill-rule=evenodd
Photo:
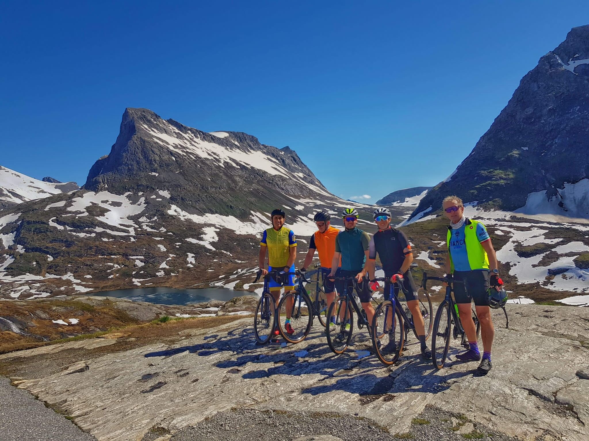
M586 25L522 78L491 128L412 218L435 212L451 194L505 211L589 218L588 64Z

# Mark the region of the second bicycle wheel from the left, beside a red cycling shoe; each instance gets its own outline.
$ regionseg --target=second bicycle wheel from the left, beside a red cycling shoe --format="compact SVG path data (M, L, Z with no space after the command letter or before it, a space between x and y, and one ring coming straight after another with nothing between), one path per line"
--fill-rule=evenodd
M292 302L292 305L289 303ZM278 303L278 316L276 318L278 330L284 340L289 343L300 343L307 337L313 323L311 299L304 292L289 292L280 299ZM290 315L290 326L292 332L286 329L284 320Z

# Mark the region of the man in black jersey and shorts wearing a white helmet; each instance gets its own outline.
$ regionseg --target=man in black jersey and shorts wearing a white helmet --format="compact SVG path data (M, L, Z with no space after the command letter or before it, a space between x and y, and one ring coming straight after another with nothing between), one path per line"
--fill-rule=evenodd
M391 212L388 208L378 208L373 215L376 225L378 225L378 231L370 239L369 257L366 265L369 277L370 279L374 279L376 254L378 253L382 268L385 271L385 278L391 279L391 282L388 280L385 282L385 297L390 292L392 276L397 275L399 283L403 283L403 288L407 291L405 297L407 306L413 315L413 322L415 323L419 343L421 343L421 355L426 359L432 358L432 353L425 343L425 325L421 310L419 309L419 301L416 295L417 289L409 271L409 267L413 262L411 244L405 233L391 228ZM398 294L398 291L399 287L395 285L395 293ZM387 347L389 345L391 348ZM395 352L395 341L391 340L382 350L386 352L391 351L391 353Z

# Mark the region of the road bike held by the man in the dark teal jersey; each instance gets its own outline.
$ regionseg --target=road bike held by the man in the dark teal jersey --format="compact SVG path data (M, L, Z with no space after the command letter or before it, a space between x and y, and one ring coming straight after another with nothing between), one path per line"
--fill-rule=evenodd
M353 289L358 288L358 282L355 276L347 277L333 277L330 279L343 280L344 289L342 293L335 301L329 305L327 310L327 320L335 317L335 326L331 326L327 323L325 328L327 336L327 345L336 354L343 353L352 340L352 332L354 329L354 311L358 315L358 329L366 328L370 332L370 323L366 319L366 312L356 302L355 296L353 295ZM350 283L352 282L352 283ZM362 283L368 282L367 279L363 280ZM372 301L372 298L370 298ZM348 329L346 329L348 328Z

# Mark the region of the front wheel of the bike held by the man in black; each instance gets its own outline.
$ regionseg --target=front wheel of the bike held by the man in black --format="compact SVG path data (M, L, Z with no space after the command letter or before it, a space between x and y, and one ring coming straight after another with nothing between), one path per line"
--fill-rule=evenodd
M370 327L372 347L378 359L385 365L395 363L405 342L405 326L398 309L393 308L391 300L380 303L376 308Z

